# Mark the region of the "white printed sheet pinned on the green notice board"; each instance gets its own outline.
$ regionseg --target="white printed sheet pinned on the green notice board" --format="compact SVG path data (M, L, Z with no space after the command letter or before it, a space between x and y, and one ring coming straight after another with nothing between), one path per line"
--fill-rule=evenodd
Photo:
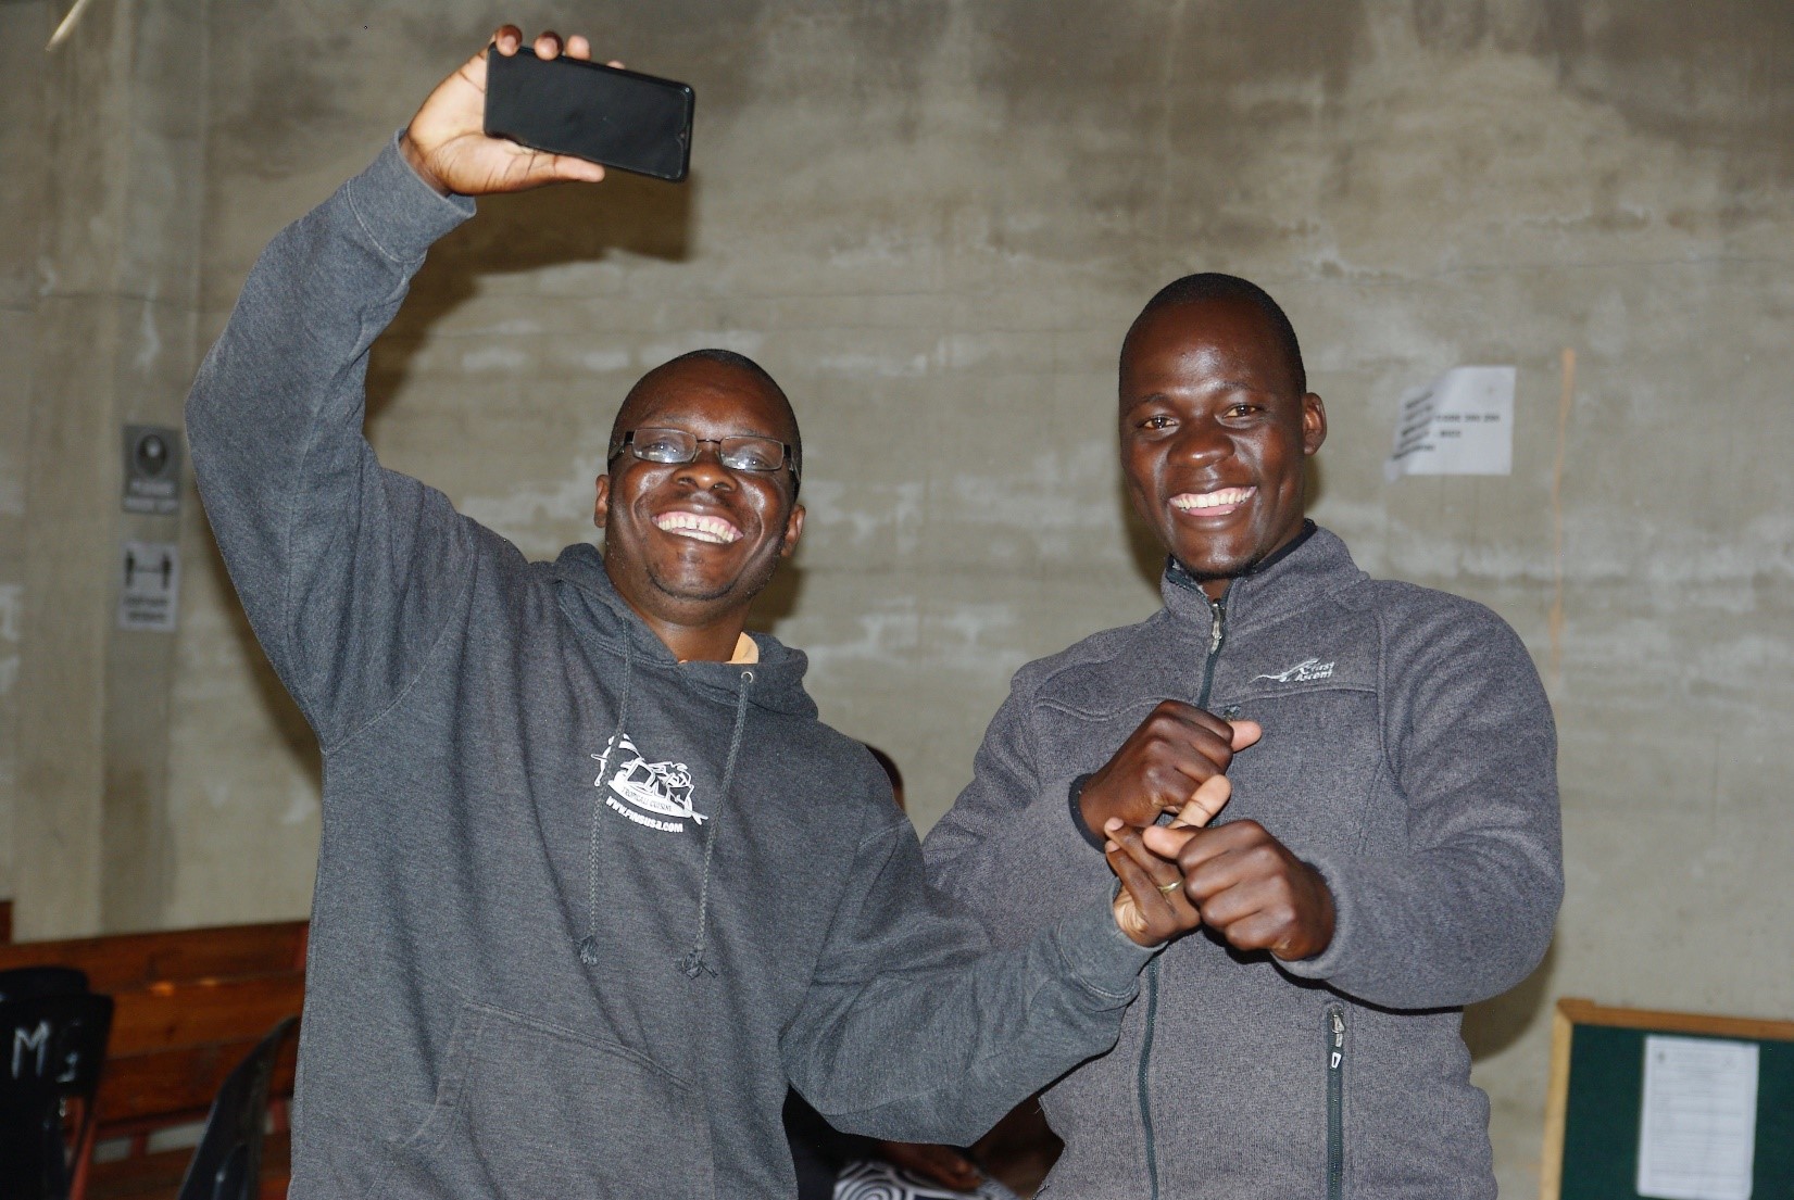
M1751 1200L1756 1157L1756 1046L1645 1039L1638 1195Z

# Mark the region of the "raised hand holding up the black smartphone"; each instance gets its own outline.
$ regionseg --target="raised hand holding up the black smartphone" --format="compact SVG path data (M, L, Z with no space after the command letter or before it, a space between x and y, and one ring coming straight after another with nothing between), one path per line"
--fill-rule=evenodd
M605 169L583 158L486 136L486 54L535 52L544 59L562 54L560 34L553 32L540 34L535 47L526 50L517 25L501 25L492 41L492 50L481 50L436 84L400 136L398 149L418 178L443 196L490 196L563 179L603 179ZM567 39L565 52L569 57L590 59L592 43L574 36Z

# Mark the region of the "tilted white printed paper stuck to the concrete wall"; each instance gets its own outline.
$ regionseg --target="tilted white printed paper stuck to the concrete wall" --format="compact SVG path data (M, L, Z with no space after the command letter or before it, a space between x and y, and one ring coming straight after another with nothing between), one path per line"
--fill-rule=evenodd
M1457 366L1401 396L1396 448L1383 465L1401 475L1509 475L1514 470L1514 368Z

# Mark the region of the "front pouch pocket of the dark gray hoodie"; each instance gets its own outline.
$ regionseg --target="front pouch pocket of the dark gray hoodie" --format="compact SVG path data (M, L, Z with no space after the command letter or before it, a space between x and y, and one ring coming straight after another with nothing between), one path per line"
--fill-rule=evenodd
M389 1144L389 1200L712 1191L703 1101L648 1057L520 1013L466 1004L436 1105ZM466 1028L466 1037L461 1030Z

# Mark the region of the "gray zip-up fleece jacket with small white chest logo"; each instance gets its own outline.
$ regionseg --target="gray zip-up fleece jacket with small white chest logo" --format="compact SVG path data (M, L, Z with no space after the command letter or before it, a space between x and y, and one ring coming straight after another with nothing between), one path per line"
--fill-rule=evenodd
M929 877L1021 943L1107 866L1071 782L1159 700L1249 717L1216 823L1254 818L1326 877L1331 945L1279 963L1198 931L1148 967L1114 1051L1046 1094L1046 1195L1494 1196L1460 1006L1532 970L1563 895L1555 734L1494 613L1371 579L1313 531L1211 604L1164 608L1023 667Z

